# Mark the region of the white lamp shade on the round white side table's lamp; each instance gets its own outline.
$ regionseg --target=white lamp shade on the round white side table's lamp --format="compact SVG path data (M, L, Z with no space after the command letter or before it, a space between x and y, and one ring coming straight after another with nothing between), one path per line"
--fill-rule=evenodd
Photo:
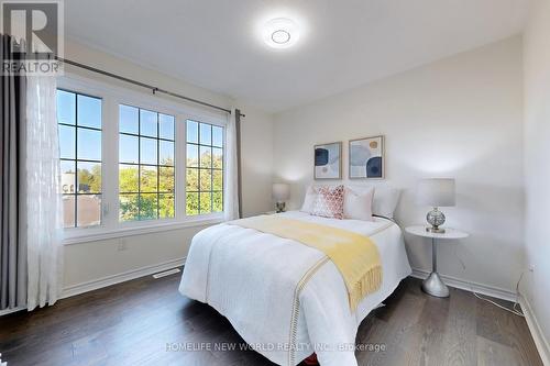
M451 207L455 204L454 179L422 179L417 187L417 203L431 207Z

